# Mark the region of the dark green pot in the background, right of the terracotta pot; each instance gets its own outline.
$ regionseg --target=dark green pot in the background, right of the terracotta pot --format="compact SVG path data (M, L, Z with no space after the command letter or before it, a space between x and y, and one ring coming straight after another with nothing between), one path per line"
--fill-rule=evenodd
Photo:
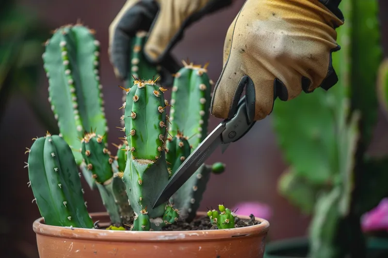
M309 258L308 238L290 238L267 243L264 258ZM367 258L387 258L388 238L367 238Z

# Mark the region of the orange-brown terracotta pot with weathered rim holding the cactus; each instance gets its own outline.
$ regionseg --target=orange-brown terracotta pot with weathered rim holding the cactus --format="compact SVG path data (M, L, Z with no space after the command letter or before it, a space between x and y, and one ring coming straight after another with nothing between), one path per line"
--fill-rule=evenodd
M106 212L90 215L109 225ZM256 219L259 225L244 228L143 232L55 227L39 218L33 230L40 258L262 258L269 223Z

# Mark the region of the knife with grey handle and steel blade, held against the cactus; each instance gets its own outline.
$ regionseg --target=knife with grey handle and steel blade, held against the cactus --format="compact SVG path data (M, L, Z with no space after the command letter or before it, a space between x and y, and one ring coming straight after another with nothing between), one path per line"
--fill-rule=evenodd
M178 170L170 178L168 184L155 199L153 208L167 201L178 189L194 174L194 172L209 158L218 146L221 145L222 153L230 143L243 137L255 124L249 122L246 100L243 96L237 106L236 114L229 120L222 121L201 144L178 167Z

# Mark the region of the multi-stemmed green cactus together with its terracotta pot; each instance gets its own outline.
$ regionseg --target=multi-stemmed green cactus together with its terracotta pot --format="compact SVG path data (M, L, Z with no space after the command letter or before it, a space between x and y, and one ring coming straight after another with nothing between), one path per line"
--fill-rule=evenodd
M65 25L46 42L49 102L60 134L33 138L26 164L42 215L33 223L40 257L262 257L266 220L236 216L223 204L198 212L210 174L222 173L223 163L202 165L168 202L152 208L207 136L211 82L206 66L183 62L167 101L157 67L142 54L145 40L139 32L132 42L131 76L120 86L117 111L123 137L114 152L94 31ZM88 212L82 175L107 212Z

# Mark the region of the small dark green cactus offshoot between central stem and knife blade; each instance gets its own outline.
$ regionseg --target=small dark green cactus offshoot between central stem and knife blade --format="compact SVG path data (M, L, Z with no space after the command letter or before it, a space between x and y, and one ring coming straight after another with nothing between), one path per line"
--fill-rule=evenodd
M179 130L176 136L173 138L167 138L165 151L170 177L177 171L178 167L182 165L183 161L185 161L191 153L191 147L187 139L188 138L183 136Z

